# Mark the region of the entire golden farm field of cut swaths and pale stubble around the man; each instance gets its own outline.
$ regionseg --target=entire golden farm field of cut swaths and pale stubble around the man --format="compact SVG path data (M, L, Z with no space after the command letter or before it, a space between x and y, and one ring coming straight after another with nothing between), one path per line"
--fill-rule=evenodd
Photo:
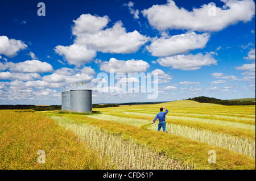
M158 121L151 124L160 107L169 111L166 133L156 131ZM255 106L179 100L93 111L100 113L1 111L0 155L1 163L5 163L1 169L51 169L55 167L55 159L47 153L52 149L63 154L57 158L65 157L66 165L56 161L57 169L255 169ZM47 126L43 127L43 123ZM44 133L41 140L38 132ZM22 137L18 136L21 133ZM66 134L72 139L64 139ZM60 146L46 141L49 137L52 142L59 140ZM37 139L40 141L36 142ZM28 145L28 142L35 144ZM63 147L67 151L61 151ZM74 148L79 150L79 155ZM36 162L36 154L22 157L26 150L34 153L39 149L46 149L48 155L44 166ZM72 154L66 154L69 149ZM208 163L210 150L216 152L216 163ZM83 151L94 154L85 156ZM80 165L80 158L85 165ZM51 160L48 165L47 160Z

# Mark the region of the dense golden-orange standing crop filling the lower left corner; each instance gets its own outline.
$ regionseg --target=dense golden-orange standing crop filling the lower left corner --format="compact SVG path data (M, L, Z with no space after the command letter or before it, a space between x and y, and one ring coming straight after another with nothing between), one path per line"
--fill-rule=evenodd
M97 151L34 110L0 110L0 169L106 169ZM38 163L38 151L46 153Z

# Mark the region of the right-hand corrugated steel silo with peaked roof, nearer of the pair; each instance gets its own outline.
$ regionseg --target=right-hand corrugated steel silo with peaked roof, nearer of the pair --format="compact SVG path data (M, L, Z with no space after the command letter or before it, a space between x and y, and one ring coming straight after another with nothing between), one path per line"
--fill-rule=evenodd
M92 90L80 83L70 90L70 109L73 112L92 112Z

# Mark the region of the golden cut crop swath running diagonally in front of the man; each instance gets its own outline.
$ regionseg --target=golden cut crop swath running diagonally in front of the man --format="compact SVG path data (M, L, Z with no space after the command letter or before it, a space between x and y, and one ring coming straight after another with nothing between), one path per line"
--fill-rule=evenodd
M211 146L174 134L152 131L143 126L118 123L117 121L99 120L72 114L61 115L61 117L68 117L77 123L95 125L112 134L131 137L137 141L137 144L152 146L162 154L174 156L177 161L196 163L197 169L255 169L255 159L219 146ZM210 165L208 163L209 150L216 150L217 164Z

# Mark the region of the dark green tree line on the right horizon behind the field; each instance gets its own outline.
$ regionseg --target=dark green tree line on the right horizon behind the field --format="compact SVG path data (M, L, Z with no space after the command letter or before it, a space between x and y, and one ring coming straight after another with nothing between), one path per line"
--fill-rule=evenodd
M208 98L206 96L199 96L196 98L188 98L188 100L195 100L200 103L213 103L213 104L222 104L225 106L246 106L246 105L255 105L255 102L252 101L239 101L239 100L221 100L216 98Z

